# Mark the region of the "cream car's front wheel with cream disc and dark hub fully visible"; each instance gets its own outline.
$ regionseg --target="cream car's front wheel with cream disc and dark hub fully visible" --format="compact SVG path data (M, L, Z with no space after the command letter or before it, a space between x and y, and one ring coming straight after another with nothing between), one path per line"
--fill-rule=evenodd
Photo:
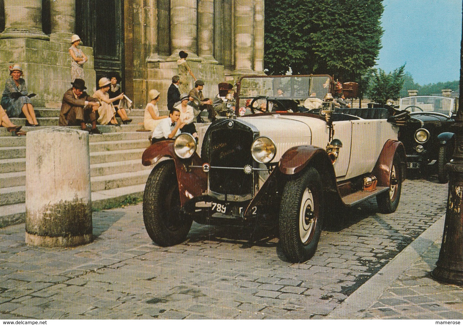
M309 168L286 183L280 206L280 242L291 262L312 258L317 249L325 214L319 172Z

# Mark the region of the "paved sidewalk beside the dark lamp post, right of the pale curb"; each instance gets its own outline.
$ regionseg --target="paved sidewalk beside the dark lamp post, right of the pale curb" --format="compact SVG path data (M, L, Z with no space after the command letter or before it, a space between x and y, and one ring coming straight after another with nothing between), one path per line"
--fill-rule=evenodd
M429 276L436 267L441 242L434 242L361 318L463 319L463 288L439 283Z

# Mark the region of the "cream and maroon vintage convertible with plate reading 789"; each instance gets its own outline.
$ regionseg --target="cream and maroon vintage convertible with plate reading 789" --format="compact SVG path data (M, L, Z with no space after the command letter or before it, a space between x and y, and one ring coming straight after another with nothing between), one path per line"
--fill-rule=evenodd
M394 212L406 161L398 128L385 118L334 113L332 87L328 75L245 76L229 117L208 127L201 148L188 134L148 147L142 163L155 166L143 217L151 239L181 243L193 220L277 226L286 258L302 262L316 251L333 207L376 197L379 212ZM286 96L275 96L277 89ZM284 100L296 108L313 93L324 98L319 114L284 110ZM246 99L255 114L236 117Z

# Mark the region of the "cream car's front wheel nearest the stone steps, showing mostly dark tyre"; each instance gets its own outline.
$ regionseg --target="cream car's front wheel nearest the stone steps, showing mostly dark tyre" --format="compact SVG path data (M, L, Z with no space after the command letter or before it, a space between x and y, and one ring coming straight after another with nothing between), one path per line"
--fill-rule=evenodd
M143 221L150 238L160 246L183 242L193 220L180 211L175 164L161 163L153 168L143 194Z

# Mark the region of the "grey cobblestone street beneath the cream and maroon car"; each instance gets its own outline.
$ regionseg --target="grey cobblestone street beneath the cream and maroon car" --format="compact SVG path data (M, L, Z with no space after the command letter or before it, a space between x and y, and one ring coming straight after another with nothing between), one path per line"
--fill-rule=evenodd
M286 262L275 236L250 245L238 227L194 223L185 243L159 247L144 229L141 204L94 213L94 242L72 249L25 245L24 224L7 227L0 229L0 312L6 319L322 319L442 217L446 196L446 184L407 180L395 213L376 213L374 200L351 209L303 264Z

